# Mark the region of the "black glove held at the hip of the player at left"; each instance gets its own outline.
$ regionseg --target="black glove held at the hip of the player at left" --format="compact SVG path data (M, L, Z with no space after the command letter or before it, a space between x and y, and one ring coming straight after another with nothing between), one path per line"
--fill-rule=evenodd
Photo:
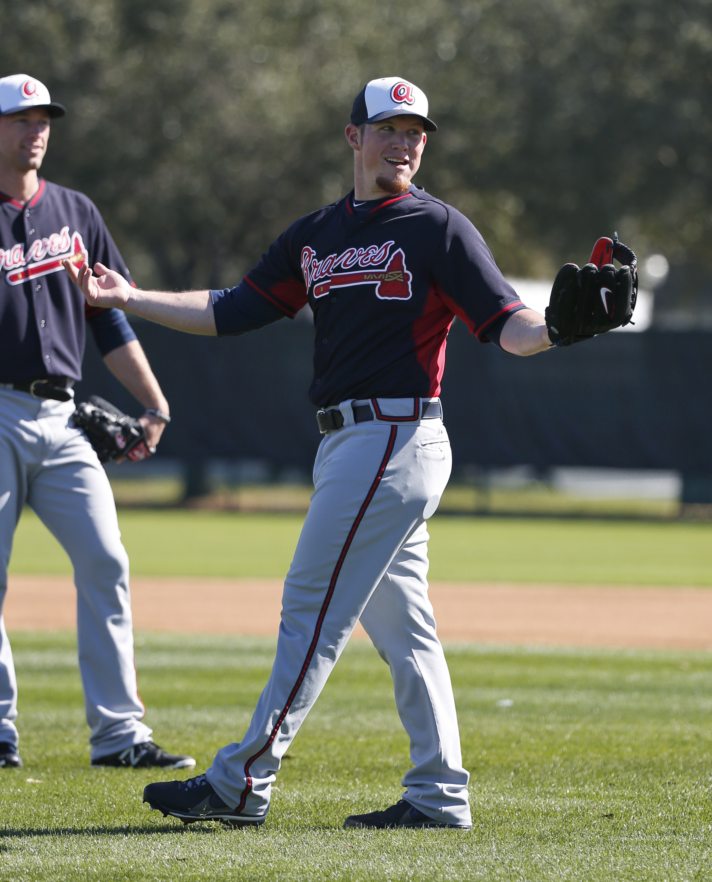
M145 460L156 452L146 444L142 422L122 414L98 395L81 401L72 415L77 429L81 429L99 456L100 462L111 462L125 456L131 462Z

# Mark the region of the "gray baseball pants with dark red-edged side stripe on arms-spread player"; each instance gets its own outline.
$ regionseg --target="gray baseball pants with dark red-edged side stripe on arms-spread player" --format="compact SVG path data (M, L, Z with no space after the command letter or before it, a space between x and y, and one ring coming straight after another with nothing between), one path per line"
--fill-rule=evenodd
M358 401L357 404L367 404ZM324 437L315 491L285 581L277 656L241 742L207 770L218 795L263 817L289 744L361 621L389 665L411 741L404 798L430 818L470 826L455 698L427 596L426 519L448 482L452 457L440 419L400 425L413 399L379 399L383 422ZM381 419L381 417L379 417Z

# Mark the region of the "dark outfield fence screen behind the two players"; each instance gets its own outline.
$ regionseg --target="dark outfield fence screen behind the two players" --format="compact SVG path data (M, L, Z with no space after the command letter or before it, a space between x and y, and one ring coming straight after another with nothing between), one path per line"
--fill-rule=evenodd
M174 415L163 456L310 471L319 444L307 397L310 322L226 340L135 327ZM137 412L93 340L84 372L79 400L94 392ZM516 358L456 322L441 396L454 464L675 469L685 475L686 501L712 501L710 378L710 333L609 333Z

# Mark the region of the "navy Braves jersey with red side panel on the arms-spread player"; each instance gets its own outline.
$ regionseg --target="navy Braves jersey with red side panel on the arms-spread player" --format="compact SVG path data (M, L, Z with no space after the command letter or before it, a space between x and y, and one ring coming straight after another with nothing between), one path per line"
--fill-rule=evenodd
M212 291L219 336L314 312L318 407L440 394L455 317L499 341L524 308L463 214L414 186L354 206L353 192L279 236L237 288Z

